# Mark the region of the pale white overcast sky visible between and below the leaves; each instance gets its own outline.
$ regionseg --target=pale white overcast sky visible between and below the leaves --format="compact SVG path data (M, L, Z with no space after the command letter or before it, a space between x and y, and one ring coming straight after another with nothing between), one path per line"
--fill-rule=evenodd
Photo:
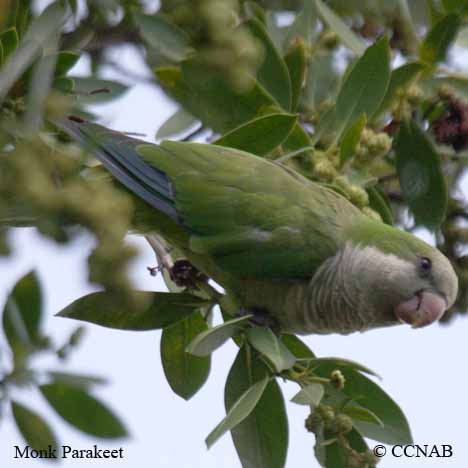
M131 47L116 51L115 59L134 73L145 73L143 63ZM86 73L81 60L74 74ZM116 78L105 70L105 77ZM95 106L101 122L116 130L145 133L154 141L157 128L175 111L155 87L139 83L126 95L109 105ZM0 305L14 283L35 268L45 290L44 330L60 343L77 322L54 317L54 313L78 297L94 290L86 281L85 259L93 246L88 236L81 236L66 248L57 248L31 229L15 230L12 235L15 255L0 259ZM140 255L131 269L136 287L164 290L160 278L149 276L146 267L154 265L151 249L137 237L129 242L140 247ZM318 356L339 356L359 361L376 370L380 384L402 407L408 417L417 444L451 444L454 456L449 459L392 458L387 455L379 464L394 467L457 467L468 460L466 442L468 407L466 347L468 317L450 326L434 325L422 330L408 326L375 330L343 337L309 336L305 341ZM2 339L3 337L0 337ZM123 447L122 460L64 460L64 467L177 467L239 468L229 435L211 450L204 444L206 435L224 417L224 382L235 357L235 346L228 343L213 355L207 384L189 402L169 388L159 358L160 332L121 332L87 326L81 347L72 355L66 369L105 376L110 384L97 387L94 394L110 405L128 427L131 438L118 442L99 441L75 431L64 423L35 392L22 391L19 401L40 412L55 428L60 443L76 449ZM50 368L54 360L41 361ZM61 368L61 370L65 370ZM292 384L282 385L286 400L297 391ZM313 456L313 436L304 429L307 409L287 403L290 444L287 468L318 467ZM272 427L272 430L275 428ZM377 443L369 441L372 448ZM45 462L15 460L14 445L24 445L10 417L0 424L0 466L47 466Z

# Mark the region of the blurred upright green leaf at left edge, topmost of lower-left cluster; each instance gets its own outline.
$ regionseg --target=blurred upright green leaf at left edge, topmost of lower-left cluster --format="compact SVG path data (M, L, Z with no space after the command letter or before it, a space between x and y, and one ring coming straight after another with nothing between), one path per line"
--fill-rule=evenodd
M16 283L3 309L3 331L14 354L34 345L41 316L41 287L36 273L31 271Z

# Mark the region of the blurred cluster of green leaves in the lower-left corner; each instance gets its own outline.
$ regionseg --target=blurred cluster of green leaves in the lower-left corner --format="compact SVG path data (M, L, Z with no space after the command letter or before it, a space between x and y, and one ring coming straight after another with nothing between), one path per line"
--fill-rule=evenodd
M43 290L32 271L16 283L3 307L2 330L8 346L1 348L2 415L11 412L18 431L32 449L58 447L56 432L47 419L22 403L21 397L18 399L21 390L28 388L39 392L50 409L79 431L103 439L125 437L127 431L120 419L92 394L92 387L105 383L103 379L38 367L37 359L44 354L68 358L83 335L83 328L78 327L57 346L44 334L43 315Z

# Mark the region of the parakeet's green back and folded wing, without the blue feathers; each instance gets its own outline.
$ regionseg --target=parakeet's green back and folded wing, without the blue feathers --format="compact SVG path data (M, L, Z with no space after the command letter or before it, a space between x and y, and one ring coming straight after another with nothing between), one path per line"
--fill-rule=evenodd
M335 192L238 150L181 142L137 150L170 178L192 250L238 276L310 277L362 216Z

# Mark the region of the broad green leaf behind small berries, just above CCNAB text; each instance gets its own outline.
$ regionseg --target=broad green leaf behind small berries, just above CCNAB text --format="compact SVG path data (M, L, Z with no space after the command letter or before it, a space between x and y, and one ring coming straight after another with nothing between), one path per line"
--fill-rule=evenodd
M382 428L356 420L355 427L361 435L391 445L412 443L408 421L402 410L375 382L348 366L332 363L323 363L314 372L319 377L328 378L335 369L340 370L346 380L342 394L372 411L384 425Z

